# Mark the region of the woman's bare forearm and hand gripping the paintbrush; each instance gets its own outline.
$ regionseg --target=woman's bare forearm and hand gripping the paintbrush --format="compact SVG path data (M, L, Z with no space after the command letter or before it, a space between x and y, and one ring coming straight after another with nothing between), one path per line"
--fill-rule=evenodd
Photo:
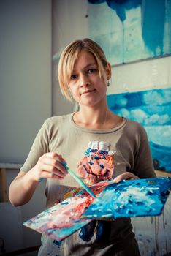
M20 170L9 187L9 200L12 205L21 206L28 203L41 178L63 179L67 171L62 162L65 161L61 155L49 152L39 157L37 164L27 173Z

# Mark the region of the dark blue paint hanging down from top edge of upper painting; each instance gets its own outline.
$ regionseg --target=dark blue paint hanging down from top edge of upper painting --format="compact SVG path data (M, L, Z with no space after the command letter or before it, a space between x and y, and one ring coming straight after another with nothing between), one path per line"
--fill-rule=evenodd
M115 10L121 23L126 20L126 11L141 7L142 39L153 56L164 54L164 23L167 15L164 0L88 0L91 4L107 3ZM171 1L168 1L168 8ZM168 9L169 10L169 9Z

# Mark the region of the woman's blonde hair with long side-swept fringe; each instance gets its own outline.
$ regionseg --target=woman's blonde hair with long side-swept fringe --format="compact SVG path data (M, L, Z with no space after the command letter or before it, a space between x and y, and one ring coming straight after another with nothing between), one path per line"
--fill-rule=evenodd
M68 84L74 69L75 61L77 60L81 50L87 50L94 56L99 70L100 78L104 79L105 68L107 67L107 59L104 51L93 40L85 38L82 40L75 40L74 42L71 42L69 45L67 45L61 53L61 57L59 59L58 81L61 88L61 93L64 95L64 97L66 97L66 99L69 99L70 101L71 98Z

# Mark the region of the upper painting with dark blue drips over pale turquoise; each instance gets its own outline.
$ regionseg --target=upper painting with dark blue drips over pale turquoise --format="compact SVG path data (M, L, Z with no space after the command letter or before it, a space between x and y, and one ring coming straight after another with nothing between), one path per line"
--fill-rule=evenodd
M110 64L171 53L171 1L88 0L88 34Z

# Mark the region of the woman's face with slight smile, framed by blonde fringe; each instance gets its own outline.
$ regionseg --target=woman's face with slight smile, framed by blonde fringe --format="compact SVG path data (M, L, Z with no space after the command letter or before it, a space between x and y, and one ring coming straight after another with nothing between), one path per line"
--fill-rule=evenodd
M82 50L75 61L74 70L69 80L69 90L79 105L94 106L106 99L107 75L99 77L99 70L94 56Z

